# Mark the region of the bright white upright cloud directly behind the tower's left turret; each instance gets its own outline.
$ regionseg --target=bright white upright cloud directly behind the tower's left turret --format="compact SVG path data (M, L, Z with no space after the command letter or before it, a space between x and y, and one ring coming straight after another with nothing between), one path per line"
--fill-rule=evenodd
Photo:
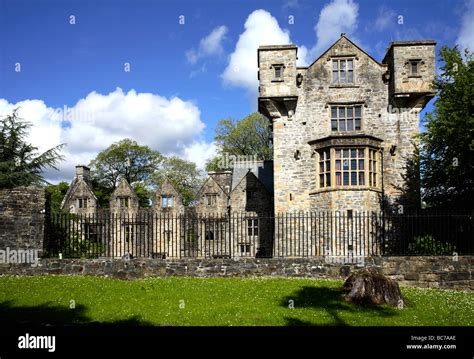
M224 84L243 87L256 94L257 80L257 49L260 45L291 44L290 32L280 28L278 21L265 10L252 12L244 25L234 52L229 56L229 63L221 77ZM306 61L308 51L301 47L298 52L298 65Z

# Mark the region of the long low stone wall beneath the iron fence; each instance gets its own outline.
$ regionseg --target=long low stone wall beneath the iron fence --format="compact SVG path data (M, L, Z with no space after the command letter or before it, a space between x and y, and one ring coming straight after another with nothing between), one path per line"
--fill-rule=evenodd
M365 266L376 266L401 286L474 289L474 257L374 257ZM0 264L0 275L98 275L121 279L150 276L195 277L301 277L345 279L360 265L326 263L314 259L40 259L31 264Z

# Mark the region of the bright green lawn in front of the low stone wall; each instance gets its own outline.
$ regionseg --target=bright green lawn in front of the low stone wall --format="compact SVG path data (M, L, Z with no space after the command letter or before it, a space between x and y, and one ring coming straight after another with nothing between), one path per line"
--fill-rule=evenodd
M4 324L53 325L474 324L473 292L403 289L408 307L398 310L361 308L345 302L341 285L336 280L283 278L122 281L87 276L2 276L0 318ZM294 309L289 308L290 300Z

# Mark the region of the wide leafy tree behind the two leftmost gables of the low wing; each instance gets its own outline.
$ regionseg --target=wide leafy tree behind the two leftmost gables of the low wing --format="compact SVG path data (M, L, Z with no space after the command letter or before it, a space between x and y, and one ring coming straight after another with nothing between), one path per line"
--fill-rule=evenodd
M91 162L91 170L97 182L113 190L121 178L130 184L146 182L162 161L158 151L126 138L100 152Z

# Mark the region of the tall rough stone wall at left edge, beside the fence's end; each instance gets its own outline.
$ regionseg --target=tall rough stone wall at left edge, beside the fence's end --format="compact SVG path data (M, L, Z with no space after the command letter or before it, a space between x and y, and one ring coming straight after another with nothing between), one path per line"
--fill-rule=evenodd
M43 188L0 190L0 250L42 250L45 208Z

